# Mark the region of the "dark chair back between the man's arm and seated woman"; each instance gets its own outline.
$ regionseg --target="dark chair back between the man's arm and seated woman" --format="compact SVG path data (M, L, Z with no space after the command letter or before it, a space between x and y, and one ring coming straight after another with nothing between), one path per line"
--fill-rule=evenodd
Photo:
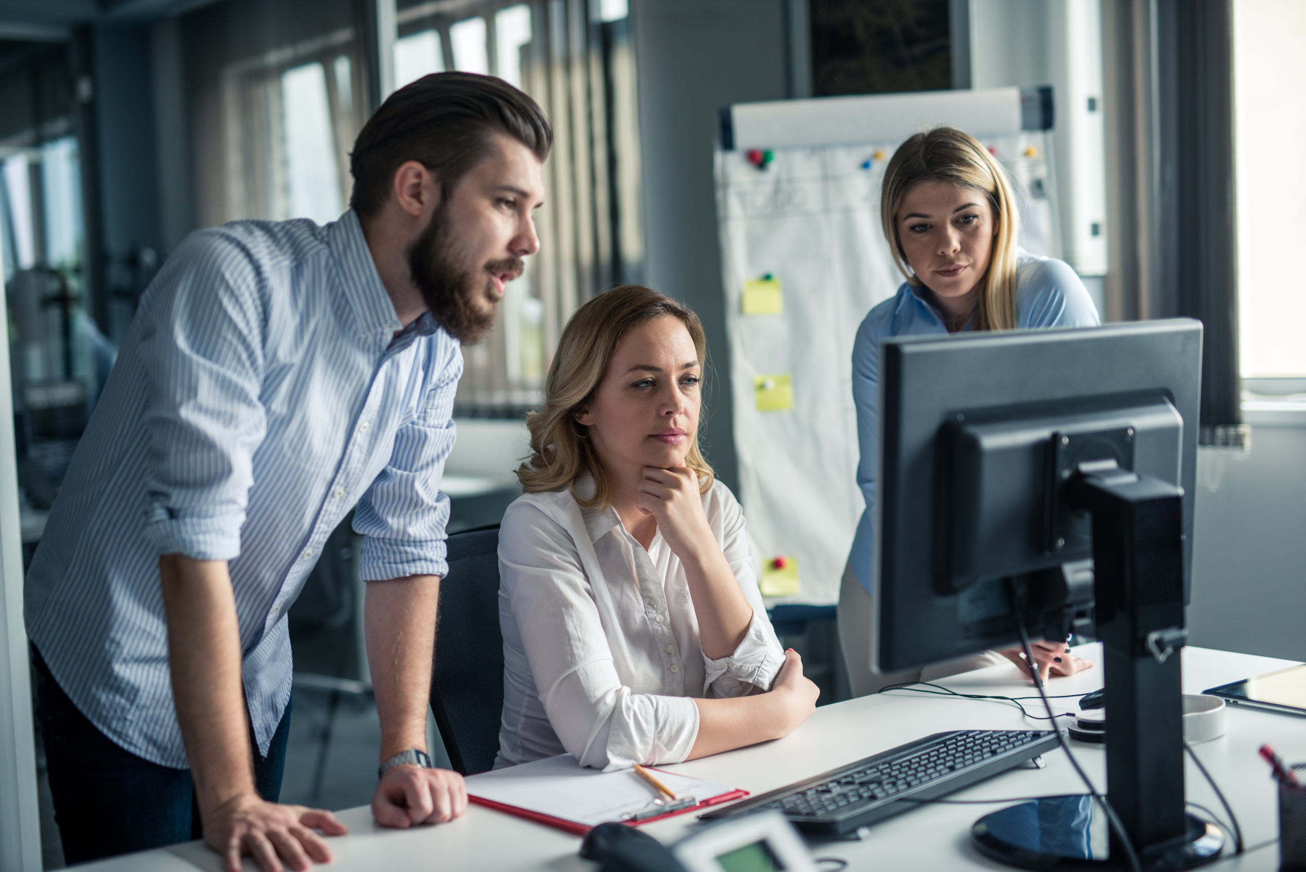
M448 539L449 574L431 672L431 713L453 768L474 775L494 768L503 713L503 634L499 632L499 525Z

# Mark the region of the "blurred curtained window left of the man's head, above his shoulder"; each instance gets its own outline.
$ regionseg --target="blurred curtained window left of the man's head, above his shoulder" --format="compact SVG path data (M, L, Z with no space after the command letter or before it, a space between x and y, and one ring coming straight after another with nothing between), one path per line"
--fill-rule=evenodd
M329 222L347 208L368 114L357 12L353 0L223 0L179 17L187 223Z

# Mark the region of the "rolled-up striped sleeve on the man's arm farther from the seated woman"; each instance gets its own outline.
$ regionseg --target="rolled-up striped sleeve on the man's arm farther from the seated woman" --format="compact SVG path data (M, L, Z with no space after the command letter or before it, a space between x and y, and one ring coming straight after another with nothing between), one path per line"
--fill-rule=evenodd
M259 269L238 243L193 234L142 300L145 535L159 553L240 553L253 453L266 435Z

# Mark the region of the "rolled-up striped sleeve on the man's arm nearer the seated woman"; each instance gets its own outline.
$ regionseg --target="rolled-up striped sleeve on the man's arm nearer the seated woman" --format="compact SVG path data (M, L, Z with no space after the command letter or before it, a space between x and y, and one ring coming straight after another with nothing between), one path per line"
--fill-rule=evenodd
M443 578L449 572L449 497L440 491L440 482L456 437L453 396L461 376L462 352L454 347L426 390L417 416L394 435L385 469L358 501L354 530L363 535L363 581Z

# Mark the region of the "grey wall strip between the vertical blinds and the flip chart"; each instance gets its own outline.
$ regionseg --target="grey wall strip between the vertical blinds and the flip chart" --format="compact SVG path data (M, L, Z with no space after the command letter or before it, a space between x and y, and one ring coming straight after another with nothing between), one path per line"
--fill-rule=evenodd
M789 97L785 0L635 0L649 285L708 335L714 380L700 440L738 487L712 150L717 110Z

